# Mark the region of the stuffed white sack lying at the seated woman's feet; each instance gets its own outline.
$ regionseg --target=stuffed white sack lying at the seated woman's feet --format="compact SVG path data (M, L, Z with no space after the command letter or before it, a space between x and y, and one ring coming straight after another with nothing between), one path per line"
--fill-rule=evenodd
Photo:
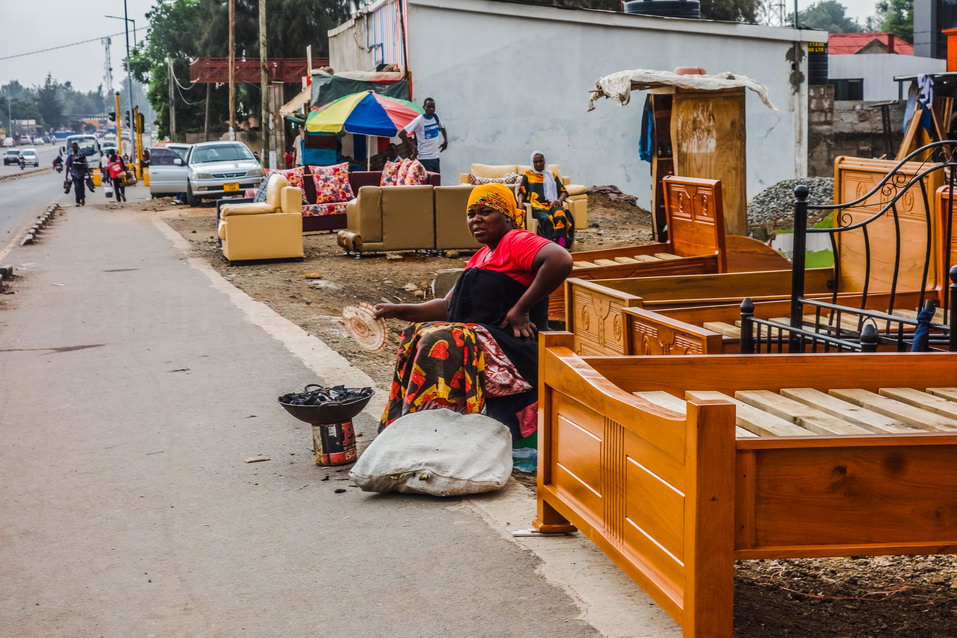
M424 410L396 419L349 472L367 492L458 496L491 492L512 473L512 435L481 414Z

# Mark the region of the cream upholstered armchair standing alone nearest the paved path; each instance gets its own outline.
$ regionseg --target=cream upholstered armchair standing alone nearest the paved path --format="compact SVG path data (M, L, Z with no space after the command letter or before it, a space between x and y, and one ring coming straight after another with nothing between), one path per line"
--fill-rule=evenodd
M270 175L265 202L221 206L219 238L230 262L301 259L302 191L282 175Z

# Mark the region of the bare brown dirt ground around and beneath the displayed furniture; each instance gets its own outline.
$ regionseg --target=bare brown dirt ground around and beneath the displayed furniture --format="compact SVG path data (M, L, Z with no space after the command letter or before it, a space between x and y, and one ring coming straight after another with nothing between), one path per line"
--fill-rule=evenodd
M369 353L343 331L342 309L358 302L429 297L433 273L460 267L468 257L396 254L356 260L342 254L334 235L311 234L306 236L302 262L229 266L216 248L214 209L177 207L169 200L137 206L166 218L190 241L194 255L321 338L383 386L391 379L394 346L403 324L391 322L389 345ZM578 250L651 240L650 217L634 206L592 198L590 218L591 227L579 233ZM307 273L321 278L307 279ZM957 636L955 603L954 556L745 561L735 572L735 635L952 637Z

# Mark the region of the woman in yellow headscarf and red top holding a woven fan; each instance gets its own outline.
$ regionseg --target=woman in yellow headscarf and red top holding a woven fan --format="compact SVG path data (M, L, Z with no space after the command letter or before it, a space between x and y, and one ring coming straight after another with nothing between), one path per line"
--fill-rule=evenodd
M483 412L515 440L537 428L538 345L548 295L571 272L568 251L526 230L502 184L476 186L467 221L484 244L443 299L379 304L378 318L413 322L402 333L381 427L434 408Z

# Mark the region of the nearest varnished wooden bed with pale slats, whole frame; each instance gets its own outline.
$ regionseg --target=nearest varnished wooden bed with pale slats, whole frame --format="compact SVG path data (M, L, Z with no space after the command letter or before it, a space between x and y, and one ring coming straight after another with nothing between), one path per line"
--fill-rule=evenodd
M957 551L957 354L539 344L534 526L577 527L686 636L732 635L735 560Z

